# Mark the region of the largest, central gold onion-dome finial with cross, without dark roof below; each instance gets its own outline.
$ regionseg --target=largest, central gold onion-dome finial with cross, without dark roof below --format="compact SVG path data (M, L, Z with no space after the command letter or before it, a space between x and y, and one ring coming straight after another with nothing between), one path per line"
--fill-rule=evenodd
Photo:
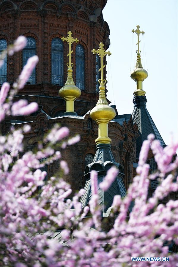
M95 140L96 144L111 144L111 138L108 137L108 123L114 119L116 116L116 112L114 108L108 105L105 96L105 83L106 80L104 79L103 69L106 65L103 65L103 58L104 56L110 56L111 53L108 51L106 52L103 49L104 45L102 42L99 44L99 49L93 49L92 53L98 54L100 56L101 67L99 71L101 72L101 79L98 80L100 83L100 95L96 106L90 111L90 117L96 121L98 124L98 138Z

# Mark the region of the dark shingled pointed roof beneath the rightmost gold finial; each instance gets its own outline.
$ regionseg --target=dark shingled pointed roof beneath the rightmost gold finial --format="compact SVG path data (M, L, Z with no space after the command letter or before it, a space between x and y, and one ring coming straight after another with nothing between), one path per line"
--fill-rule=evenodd
M147 136L150 133L155 135L155 138L160 141L161 146L165 146L164 140L146 108L146 102L147 99L145 96L134 96L133 98L134 110L132 113L132 118L133 123L137 124L138 131L140 133L136 143L137 157L140 153L143 141L147 139Z

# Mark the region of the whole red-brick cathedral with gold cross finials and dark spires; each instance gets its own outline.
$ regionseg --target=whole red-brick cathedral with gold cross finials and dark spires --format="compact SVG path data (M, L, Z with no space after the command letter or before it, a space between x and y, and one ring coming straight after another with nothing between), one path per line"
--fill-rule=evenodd
M28 123L31 131L24 137L25 151L34 149L56 123L67 126L70 136L79 134L80 142L62 150L62 159L70 167L64 180L71 184L73 193L85 187L81 198L84 207L91 196L91 170L97 170L101 181L115 165L119 170L116 180L109 191L100 192L105 217L114 195L124 197L132 183L147 135L154 133L165 146L146 108L142 83L148 73L142 67L139 46L136 67L131 72L137 84L133 112L118 114L116 106L109 105L106 69L111 54L110 30L102 14L106 4L107 0L4 0L0 4L0 51L19 35L27 38L26 47L5 60L0 83L13 84L28 58L39 57L25 87L15 97L15 101L37 102L39 109L29 116L8 116L1 131L5 134L11 125L18 128ZM133 32L138 38L143 34L139 26ZM152 172L156 163L151 153L149 163ZM45 165L44 170L48 177L57 174L59 162ZM151 187L154 189L156 182Z

